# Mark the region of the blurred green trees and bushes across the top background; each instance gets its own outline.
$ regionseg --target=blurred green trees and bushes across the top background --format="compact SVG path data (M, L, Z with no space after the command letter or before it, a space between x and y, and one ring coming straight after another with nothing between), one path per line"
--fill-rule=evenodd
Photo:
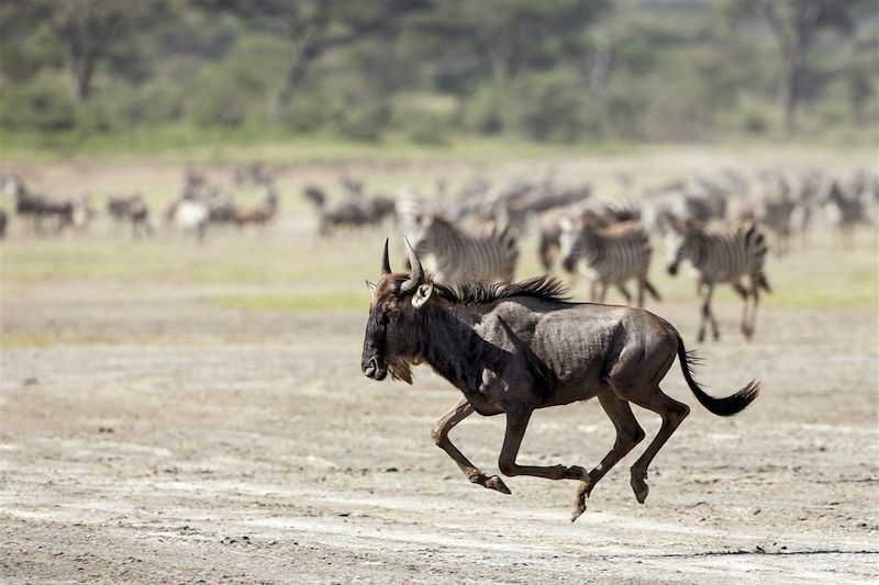
M846 0L30 0L15 151L297 139L876 144L879 8Z

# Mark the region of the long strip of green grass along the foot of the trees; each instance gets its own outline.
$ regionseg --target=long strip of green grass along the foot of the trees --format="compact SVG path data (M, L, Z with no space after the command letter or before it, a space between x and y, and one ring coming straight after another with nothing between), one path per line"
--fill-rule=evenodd
M643 147L621 142L582 142L574 145L533 143L515 136L449 136L442 144L413 142L408 133L388 133L376 143L340 138L331 134L291 134L270 126L236 130L204 128L187 124L136 127L124 134L52 134L4 132L0 155L7 161L53 161L88 158L179 160L191 162L353 160L425 160L476 158L545 158L578 154L616 155Z

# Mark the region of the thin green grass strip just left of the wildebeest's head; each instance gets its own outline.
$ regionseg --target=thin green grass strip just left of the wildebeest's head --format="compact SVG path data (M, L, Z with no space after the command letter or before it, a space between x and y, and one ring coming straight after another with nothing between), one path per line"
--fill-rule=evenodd
M201 297L203 303L245 311L366 311L366 289L291 292L282 294L220 294Z

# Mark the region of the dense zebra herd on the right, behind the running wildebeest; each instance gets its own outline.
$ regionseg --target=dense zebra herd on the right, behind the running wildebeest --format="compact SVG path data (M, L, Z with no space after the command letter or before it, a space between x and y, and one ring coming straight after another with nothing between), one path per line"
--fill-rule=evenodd
M699 340L709 328L720 338L711 307L720 284L742 296L741 330L750 339L760 292L771 292L764 271L769 239L779 256L789 254L792 236L799 234L805 241L814 215L823 209L843 244L850 243L856 227L872 224L879 181L863 171L848 181L816 171L761 172L749 181L743 173L725 171L646 190L641 204L600 204L590 194L589 185L558 189L544 181L515 182L499 191L488 184L467 185L448 198L443 183L432 203L411 193L399 198L394 214L400 232L432 265L437 282L511 282L520 243L535 225L547 272L559 261L571 281L583 277L590 283L592 302L603 303L613 288L639 307L646 295L660 300L648 272L653 240L661 238L668 272L676 274L683 261L696 272ZM737 215L731 214L733 209Z

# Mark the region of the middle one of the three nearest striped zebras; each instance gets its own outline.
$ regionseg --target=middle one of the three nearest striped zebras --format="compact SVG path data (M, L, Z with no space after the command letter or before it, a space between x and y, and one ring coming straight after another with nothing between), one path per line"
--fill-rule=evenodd
M614 285L632 302L625 288L626 282L635 280L638 288L638 306L644 306L644 291L659 301L659 293L647 280L650 267L650 237L637 222L621 222L601 227L589 217L561 220L559 236L561 265L569 272L579 268L581 274L591 281L590 300L603 303L609 285Z

